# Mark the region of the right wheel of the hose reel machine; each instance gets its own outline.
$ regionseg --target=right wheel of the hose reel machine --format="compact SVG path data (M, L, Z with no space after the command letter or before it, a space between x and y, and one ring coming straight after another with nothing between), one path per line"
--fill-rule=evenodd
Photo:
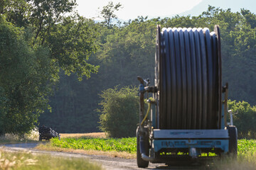
M238 129L234 125L228 125L228 154L236 159L238 155Z

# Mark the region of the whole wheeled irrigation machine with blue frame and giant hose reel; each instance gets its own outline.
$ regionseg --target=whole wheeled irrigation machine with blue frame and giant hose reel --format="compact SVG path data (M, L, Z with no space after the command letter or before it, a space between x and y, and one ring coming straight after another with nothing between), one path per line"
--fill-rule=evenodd
M236 157L237 129L227 123L228 84L222 86L220 29L157 26L155 82L138 77L137 165ZM144 96L149 107L144 109ZM230 120L232 113L230 113Z

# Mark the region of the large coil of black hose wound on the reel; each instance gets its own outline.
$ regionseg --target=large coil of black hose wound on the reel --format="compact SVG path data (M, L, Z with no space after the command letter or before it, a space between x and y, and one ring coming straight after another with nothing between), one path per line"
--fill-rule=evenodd
M221 106L220 33L163 28L156 37L160 129L218 129Z

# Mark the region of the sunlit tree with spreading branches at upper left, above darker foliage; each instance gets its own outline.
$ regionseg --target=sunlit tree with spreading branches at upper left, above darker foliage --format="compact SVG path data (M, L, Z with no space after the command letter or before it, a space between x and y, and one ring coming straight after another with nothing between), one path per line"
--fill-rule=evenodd
M97 30L93 21L73 13L76 5L75 0L4 0L3 13L6 21L31 31L32 46L49 48L55 71L64 69L82 79L97 72L86 62L97 49Z

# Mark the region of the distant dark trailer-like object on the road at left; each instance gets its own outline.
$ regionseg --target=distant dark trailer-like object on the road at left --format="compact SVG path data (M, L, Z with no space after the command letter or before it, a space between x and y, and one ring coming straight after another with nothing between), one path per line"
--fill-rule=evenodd
M45 125L39 128L39 141L50 140L52 137L58 137L58 139L60 139L60 134L52 128L46 127Z

